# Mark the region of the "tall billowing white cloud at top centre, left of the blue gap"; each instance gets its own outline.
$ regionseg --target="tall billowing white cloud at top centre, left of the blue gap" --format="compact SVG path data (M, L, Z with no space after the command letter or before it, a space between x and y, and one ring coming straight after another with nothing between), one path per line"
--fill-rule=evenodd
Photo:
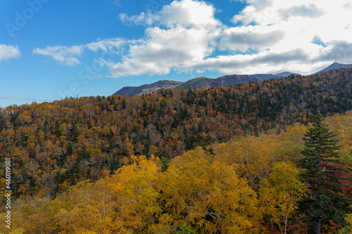
M220 33L221 23L214 13L215 8L203 1L182 0L163 6L158 13L120 15L128 25L153 27L146 29L144 43L130 46L127 56L113 66L112 76L168 74L200 63L213 52L210 44Z

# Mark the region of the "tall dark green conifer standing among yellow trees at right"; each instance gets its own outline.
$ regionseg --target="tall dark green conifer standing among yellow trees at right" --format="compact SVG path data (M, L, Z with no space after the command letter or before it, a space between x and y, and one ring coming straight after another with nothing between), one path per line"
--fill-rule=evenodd
M343 225L346 214L351 212L351 200L341 195L345 187L341 181L345 178L337 176L343 169L336 167L341 162L335 136L317 115L313 127L303 138L305 157L299 166L305 169L301 178L308 185L310 195L301 203L300 209L308 216L309 233L320 234L322 225L329 225L330 221Z

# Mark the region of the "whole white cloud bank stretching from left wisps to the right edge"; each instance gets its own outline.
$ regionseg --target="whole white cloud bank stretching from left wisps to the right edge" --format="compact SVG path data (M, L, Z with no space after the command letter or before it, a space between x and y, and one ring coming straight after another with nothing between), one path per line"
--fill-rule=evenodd
M238 0L237 0L238 1ZM172 1L160 11L119 18L145 27L144 37L99 39L81 46L34 49L65 65L80 63L84 50L118 53L96 61L111 77L206 70L254 74L288 70L310 74L337 61L352 63L351 0L247 0L233 25L215 18L205 1ZM221 9L220 9L221 10Z

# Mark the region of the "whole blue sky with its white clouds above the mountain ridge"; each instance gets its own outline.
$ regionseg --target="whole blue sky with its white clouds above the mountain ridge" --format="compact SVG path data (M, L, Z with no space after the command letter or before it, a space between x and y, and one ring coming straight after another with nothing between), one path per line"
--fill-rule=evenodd
M0 0L0 108L352 63L351 13L348 0Z

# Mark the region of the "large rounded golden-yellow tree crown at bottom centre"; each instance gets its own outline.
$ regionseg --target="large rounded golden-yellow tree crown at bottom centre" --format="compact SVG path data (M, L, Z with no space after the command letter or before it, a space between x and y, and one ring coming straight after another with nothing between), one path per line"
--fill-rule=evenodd
M168 223L189 223L201 233L258 233L256 193L235 171L201 148L172 160L161 178Z

